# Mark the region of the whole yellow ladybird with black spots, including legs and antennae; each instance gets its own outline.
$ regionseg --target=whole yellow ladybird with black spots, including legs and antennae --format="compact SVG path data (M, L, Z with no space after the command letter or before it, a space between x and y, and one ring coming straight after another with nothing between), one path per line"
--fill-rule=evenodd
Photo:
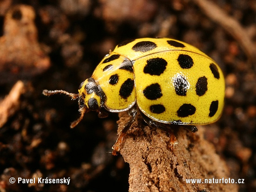
M123 137L136 114L153 127L215 122L224 105L221 68L199 49L179 40L142 38L126 40L107 54L78 94L44 90L44 95L64 93L78 99L81 116L88 111L106 117L107 112L128 111L130 120L113 146L119 152ZM168 127L170 129L170 127Z

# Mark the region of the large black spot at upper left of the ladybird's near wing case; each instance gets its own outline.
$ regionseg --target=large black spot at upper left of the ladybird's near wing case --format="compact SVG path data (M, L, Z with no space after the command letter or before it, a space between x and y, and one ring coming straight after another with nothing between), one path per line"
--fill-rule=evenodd
M167 61L162 58L153 58L147 60L147 65L144 67L143 72L150 75L161 75L166 69Z

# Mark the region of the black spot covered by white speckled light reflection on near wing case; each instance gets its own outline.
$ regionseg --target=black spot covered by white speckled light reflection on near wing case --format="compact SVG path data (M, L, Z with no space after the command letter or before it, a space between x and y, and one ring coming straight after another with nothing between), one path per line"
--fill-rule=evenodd
M173 80L174 87L175 87L175 92L177 95L180 96L186 96L187 95L187 90L189 88L189 82L185 77L183 77L180 74L177 74L175 79Z

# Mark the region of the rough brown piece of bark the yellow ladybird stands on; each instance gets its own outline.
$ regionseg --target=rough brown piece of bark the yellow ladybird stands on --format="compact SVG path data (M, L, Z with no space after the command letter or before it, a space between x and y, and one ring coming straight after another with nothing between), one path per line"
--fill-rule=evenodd
M120 134L129 116L125 112L119 116ZM225 162L203 138L203 130L203 126L198 126L198 132L192 133L179 127L174 131L178 144L170 150L168 134L148 127L138 115L121 144L121 155L130 166L129 191L236 192L236 184L186 183L186 179L229 179Z

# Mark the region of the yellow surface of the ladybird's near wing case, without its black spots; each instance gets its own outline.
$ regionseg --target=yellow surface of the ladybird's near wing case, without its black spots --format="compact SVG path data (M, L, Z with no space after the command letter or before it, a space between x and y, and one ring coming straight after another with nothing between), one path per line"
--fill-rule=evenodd
M194 60L194 66L190 69L181 69L177 62L180 53L184 51L169 51L159 53L159 55L150 55L135 61L135 84L137 105L140 110L151 119L163 123L181 120L182 124L198 125L208 124L216 121L221 113L224 105L224 77L220 73L220 79L214 78L209 69L212 60L199 55L197 53L189 53ZM149 57L159 56L165 59L168 64L166 70L160 76L152 76L150 74L140 75L137 73L143 72L146 60ZM216 64L216 63L215 63ZM218 67L219 72L221 69ZM175 93L173 77L180 75L185 77L189 82L189 89L186 96L179 96ZM208 90L203 96L198 96L195 93L195 85L199 77L205 76L208 79ZM144 97L142 91L150 84L158 83L161 86L162 97L156 100L148 100ZM212 101L219 100L219 107L213 117L209 117L209 107ZM162 104L165 106L165 112L161 114L151 113L149 107L151 105ZM188 117L178 117L177 110L182 104L191 104L195 106L196 112Z

